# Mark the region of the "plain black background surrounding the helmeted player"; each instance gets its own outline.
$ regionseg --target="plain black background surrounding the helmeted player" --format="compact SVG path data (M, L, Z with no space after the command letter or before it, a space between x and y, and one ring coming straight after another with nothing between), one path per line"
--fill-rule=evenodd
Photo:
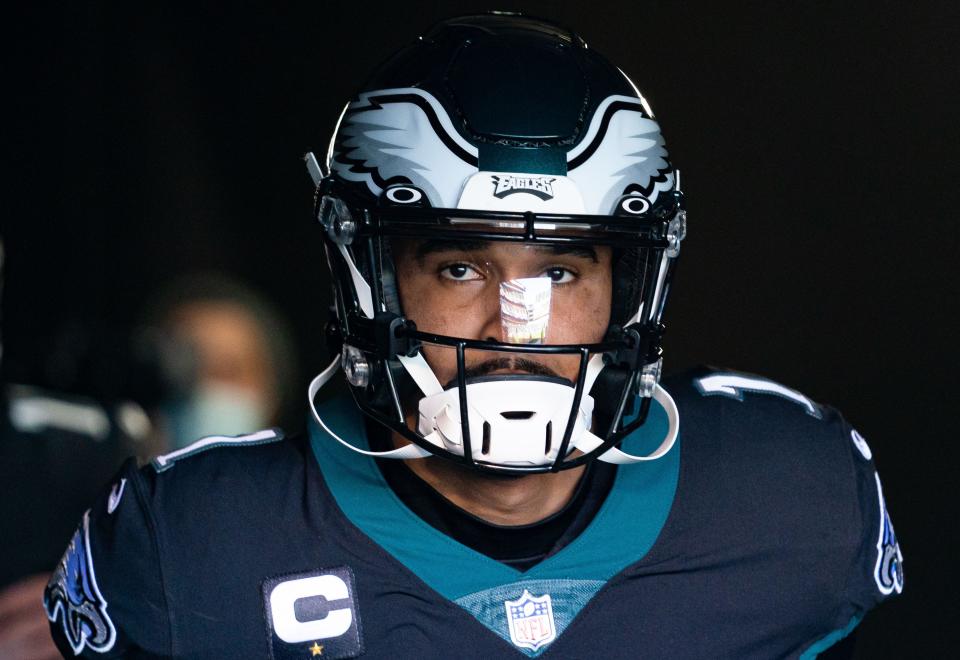
M517 6L574 26L630 75L683 172L668 368L762 373L838 407L870 442L906 590L862 624L858 657L954 646L958 5ZM319 371L329 284L300 157L325 151L384 57L484 8L115 3L9 17L6 378L96 387L50 356L103 352L151 292L197 268L268 293L294 324L303 377Z

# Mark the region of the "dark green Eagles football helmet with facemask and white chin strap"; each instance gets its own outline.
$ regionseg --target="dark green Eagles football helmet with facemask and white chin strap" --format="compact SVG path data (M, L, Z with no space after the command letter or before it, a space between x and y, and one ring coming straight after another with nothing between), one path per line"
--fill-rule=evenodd
M658 382L663 309L686 233L679 174L637 88L579 36L512 13L441 22L346 105L323 164L305 160L339 344L309 396L335 439L369 455L436 455L509 474L669 451L678 419ZM429 331L429 319L405 314L398 245L444 241L609 250L605 334L550 343L548 321L562 323L548 319L551 287L526 279L500 283L500 337ZM455 356L447 382L430 360L441 350ZM503 356L534 367L573 361L576 376L471 368ZM327 427L313 400L340 366L360 409L409 445L367 451ZM652 400L667 412L667 436L647 456L626 454L617 445Z

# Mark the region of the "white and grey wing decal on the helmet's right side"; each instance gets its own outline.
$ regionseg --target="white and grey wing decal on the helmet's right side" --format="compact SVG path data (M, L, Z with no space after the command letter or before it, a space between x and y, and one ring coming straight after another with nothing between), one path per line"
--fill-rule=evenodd
M583 194L588 213L609 214L624 194L653 202L673 188L660 126L641 99L609 96L597 107L587 134L567 152L567 176Z

